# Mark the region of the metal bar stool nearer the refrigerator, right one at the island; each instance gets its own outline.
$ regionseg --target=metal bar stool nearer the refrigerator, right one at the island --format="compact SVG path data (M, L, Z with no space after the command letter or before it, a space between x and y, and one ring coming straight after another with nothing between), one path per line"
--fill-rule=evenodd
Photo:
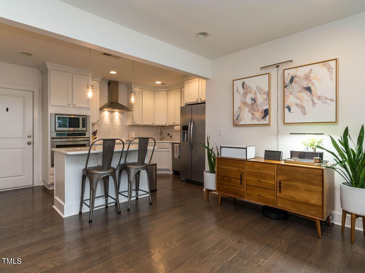
M135 139L138 139L137 162L126 162L129 147L130 147L132 141L134 141ZM148 163L145 163L145 158L146 158L146 154L147 154L149 139L153 139L154 145L153 145L153 150L152 150L152 153L151 153L150 161ZM143 196L143 195L148 194L149 198L150 198L150 205L152 205L150 187L149 187L150 182L149 182L149 175L148 175L148 165L151 163L151 159L152 159L152 156L153 156L153 152L155 150L155 146L156 146L156 141L155 141L154 138L137 137L137 138L132 139L131 142L128 144L127 154L126 154L126 157L124 158L124 163L119 165L118 190L119 190L119 187L120 187L120 179L122 177L122 171L123 170L125 170L127 172L127 177L128 177L128 190L119 191L120 195L123 195L124 197L128 198L128 209L127 209L128 211L130 210L132 191L134 191L134 190L136 191L136 195L135 195L136 199L138 199L139 196ZM139 173L141 172L141 170L146 171L148 191L139 189ZM136 188L135 189L133 189L133 178L135 178L135 181L136 181ZM138 191L143 191L143 194L138 194ZM123 194L125 192L128 192L128 195Z

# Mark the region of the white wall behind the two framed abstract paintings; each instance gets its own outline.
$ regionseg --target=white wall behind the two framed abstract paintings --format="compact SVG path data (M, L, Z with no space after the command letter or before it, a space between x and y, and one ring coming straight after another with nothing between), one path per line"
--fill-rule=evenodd
M346 17L319 27L308 29L287 37L248 48L212 61L212 78L207 80L206 132L211 143L217 145L255 145L256 155L264 156L264 150L276 150L276 67L260 70L260 67L293 60L279 68L279 150L284 158L290 149L303 149L300 142L304 136L289 135L290 132L323 132L325 147L331 147L328 134L338 138L346 126L356 138L364 123L364 64L365 64L365 13ZM283 68L339 58L339 122L338 124L283 124ZM271 126L234 127L232 106L232 80L271 72ZM223 129L223 136L218 136ZM333 159L326 154L325 159ZM341 224L342 209L339 198L339 183L335 177L334 221ZM350 218L346 223L349 225ZM362 229L360 220L358 229Z

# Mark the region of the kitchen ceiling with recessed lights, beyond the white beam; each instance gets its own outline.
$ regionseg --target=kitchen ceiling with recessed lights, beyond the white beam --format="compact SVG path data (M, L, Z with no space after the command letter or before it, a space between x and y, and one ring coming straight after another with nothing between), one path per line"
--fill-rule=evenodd
M89 48L49 36L0 23L0 62L39 68L47 61L89 70ZM33 56L24 56L29 52ZM103 80L117 80L126 84L132 82L132 61L126 58L114 59L91 50L91 70ZM116 71L112 75L109 71ZM134 62L134 84L153 87L169 87L182 84L185 74ZM165 86L155 82L166 83Z

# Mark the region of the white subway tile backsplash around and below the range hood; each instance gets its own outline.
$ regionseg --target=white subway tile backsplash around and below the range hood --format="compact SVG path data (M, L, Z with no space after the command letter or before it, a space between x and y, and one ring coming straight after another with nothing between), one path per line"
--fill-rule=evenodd
M100 106L108 102L108 82L102 80L99 89ZM127 88L119 83L119 103L127 104ZM164 140L179 141L180 131L174 131L174 126L162 126ZM92 132L97 131L97 138L129 139L129 133L135 132L136 137L152 137L160 140L160 126L127 125L126 112L100 111L99 124L92 124ZM172 135L170 138L167 134Z

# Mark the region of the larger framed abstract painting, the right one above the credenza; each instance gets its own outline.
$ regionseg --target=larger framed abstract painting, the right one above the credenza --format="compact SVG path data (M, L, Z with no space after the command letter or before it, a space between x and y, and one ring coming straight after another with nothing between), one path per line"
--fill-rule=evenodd
M283 70L284 124L338 122L338 59Z

